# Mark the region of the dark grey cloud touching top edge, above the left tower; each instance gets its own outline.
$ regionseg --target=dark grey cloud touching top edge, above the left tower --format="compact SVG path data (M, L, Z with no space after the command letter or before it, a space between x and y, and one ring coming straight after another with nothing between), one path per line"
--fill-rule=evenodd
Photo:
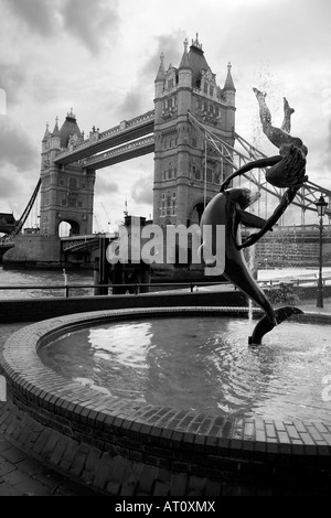
M116 0L67 0L62 14L65 29L92 53L100 50L107 32L113 40L117 33L119 17Z

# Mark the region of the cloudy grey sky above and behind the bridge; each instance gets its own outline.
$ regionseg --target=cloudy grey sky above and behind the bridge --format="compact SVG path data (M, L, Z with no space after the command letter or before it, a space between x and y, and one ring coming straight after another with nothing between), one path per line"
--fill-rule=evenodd
M266 154L253 87L275 126L282 97L309 149L309 180L331 190L330 0L0 0L0 212L19 218L40 175L41 141L73 108L81 131L153 109L154 78L202 43L223 87L236 87L236 131ZM153 155L97 171L94 231L152 215ZM38 207L28 224L35 225Z

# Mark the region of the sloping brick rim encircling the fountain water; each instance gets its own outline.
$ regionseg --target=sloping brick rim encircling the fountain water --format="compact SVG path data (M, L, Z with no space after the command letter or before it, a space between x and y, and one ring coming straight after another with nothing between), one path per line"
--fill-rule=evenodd
M53 317L31 324L13 333L0 354L0 365L6 374L9 392L14 400L22 398L29 410L33 407L56 416L86 423L95 430L109 431L129 436L148 434L162 439L163 443L183 444L186 441L196 447L226 447L250 451L259 445L263 450L273 446L274 453L302 455L331 454L331 421L273 421L258 418L227 418L177 411L171 407L135 403L68 381L44 366L38 355L54 338L87 325L105 321L151 316L189 316L194 314L247 315L247 307L147 307L86 312ZM254 310L255 315L261 314ZM331 324L331 315L305 313L309 322ZM292 317L292 320L298 320ZM18 354L18 352L20 354ZM36 410L35 410L36 409ZM203 446L202 446L203 445Z

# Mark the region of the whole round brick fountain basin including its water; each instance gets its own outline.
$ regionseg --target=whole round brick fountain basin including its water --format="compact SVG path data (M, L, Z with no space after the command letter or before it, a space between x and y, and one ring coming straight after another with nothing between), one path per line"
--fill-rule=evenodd
M282 323L264 345L249 347L246 316L237 307L117 310L20 330L0 357L9 433L108 495L274 494L289 485L299 494L328 492L331 403L323 379L331 374L324 333L331 319L309 314L310 326L290 323L303 333L296 327L289 342ZM79 347L70 345L74 337ZM83 358L90 370L79 367ZM118 376L125 371L126 379ZM217 397L207 400L212 388ZM320 400L308 404L319 390Z

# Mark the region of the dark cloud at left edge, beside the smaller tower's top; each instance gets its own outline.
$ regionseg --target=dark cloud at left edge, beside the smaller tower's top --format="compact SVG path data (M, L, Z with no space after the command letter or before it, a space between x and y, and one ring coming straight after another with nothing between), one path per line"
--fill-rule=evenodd
M0 170L13 165L19 173L25 173L38 166L39 150L23 128L7 116L0 116Z

